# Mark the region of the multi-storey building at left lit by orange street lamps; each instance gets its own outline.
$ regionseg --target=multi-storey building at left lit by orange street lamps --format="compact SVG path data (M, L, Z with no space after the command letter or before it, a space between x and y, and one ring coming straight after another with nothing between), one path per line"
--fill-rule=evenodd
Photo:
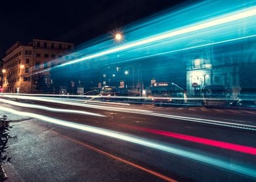
M3 58L3 92L32 93L36 89L35 73L48 76L50 67L68 60L74 44L51 40L34 39L22 44L16 42ZM44 72L45 70L45 72Z

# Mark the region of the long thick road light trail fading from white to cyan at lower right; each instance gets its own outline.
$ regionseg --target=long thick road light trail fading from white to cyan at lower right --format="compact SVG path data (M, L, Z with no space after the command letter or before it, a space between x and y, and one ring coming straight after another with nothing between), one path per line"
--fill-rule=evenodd
M63 126L71 127L74 129L80 129L82 131L86 131L89 133L95 133L97 135L109 136L109 137L116 138L119 140L124 140L126 142L131 142L133 144L146 146L148 148L158 149L158 150L165 151L165 152L173 154L173 155L178 155L180 157L185 157L187 159L195 160L197 162L203 162L204 164L215 166L217 168L223 168L225 170L229 170L236 174L242 174L242 175L247 175L248 177L256 178L256 169L255 168L253 168L252 166L246 166L246 164L239 164L238 162L235 162L235 161L231 162L229 160L227 160L227 161L221 160L217 157L209 157L206 155L202 155L199 152L184 150L181 148L177 148L176 146L167 146L164 144L158 144L157 142L153 142L151 140L146 140L144 138L138 138L137 136L126 135L126 134L119 133L116 131L111 131L108 129L92 127L89 125L82 125L79 123L68 122L65 120L58 120L56 118L50 118L48 116L42 116L40 114L33 114L30 112L20 112L18 110L14 110L14 109L8 109L6 107L0 107L0 110L4 110L5 112L10 112L13 114L18 114L20 116L29 116L29 117L37 118L39 120L43 120L43 121L49 122L49 123L54 123L57 125L63 125Z

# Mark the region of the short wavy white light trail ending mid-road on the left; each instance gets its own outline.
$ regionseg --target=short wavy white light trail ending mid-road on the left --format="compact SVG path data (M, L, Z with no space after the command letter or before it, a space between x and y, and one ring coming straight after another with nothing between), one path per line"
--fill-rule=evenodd
M6 99L0 99L0 102L8 103L10 105L16 105L16 106L19 106L19 107L27 107L27 108L48 110L50 112L64 112L64 113L71 113L71 114L85 114L85 115L91 115L91 116L104 117L104 115L102 115L102 114L87 112L87 111L84 111L84 110L56 109L56 108L46 107L46 106L42 106L42 105L19 103L19 102L16 102L16 101L9 101L9 100L6 100Z

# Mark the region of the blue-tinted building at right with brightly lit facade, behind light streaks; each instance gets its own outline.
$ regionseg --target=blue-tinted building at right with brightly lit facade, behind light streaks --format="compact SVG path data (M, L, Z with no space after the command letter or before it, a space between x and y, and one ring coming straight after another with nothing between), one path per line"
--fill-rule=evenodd
M189 46L198 44L198 41L191 42ZM187 62L187 96L200 97L204 86L223 85L227 97L231 99L245 96L252 99L248 94L256 91L256 78L253 76L256 53L253 39L229 45L212 46L210 43L212 42L200 40L200 44L209 46L184 51Z

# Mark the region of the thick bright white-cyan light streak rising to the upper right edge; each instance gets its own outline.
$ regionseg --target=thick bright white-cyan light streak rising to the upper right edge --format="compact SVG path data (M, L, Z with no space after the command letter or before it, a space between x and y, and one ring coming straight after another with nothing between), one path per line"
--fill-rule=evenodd
M125 49L130 49L132 47L137 47L138 45L145 45L145 44L149 44L152 42L157 42L159 40L165 40L167 38L172 38L174 36L179 36L182 34L187 34L189 32L195 32L195 31L199 31L202 29L206 29L206 28L210 28L210 27L214 27L216 25L223 25L224 23L229 23L231 21L236 21L239 19L244 19L244 18L248 18L251 16L255 16L256 15L256 7L253 6L251 8L248 8L246 10L240 10L238 12L233 12L232 14L229 14L227 16L224 17L219 17L216 19L210 19L208 22L204 22L204 23L197 23L196 25L191 25L190 27L185 27L184 29L178 29L176 31L170 31L170 32L165 32L163 34L159 34L150 38L145 38L143 40L138 40L136 42L132 42L130 44L125 44L125 45L121 45L120 47L115 47L113 49L108 49L106 51L102 51L100 53L95 53L93 55L88 55L86 57L83 57L81 59L76 59L76 60L72 60L70 62L61 64L59 66L66 66L69 64L74 64L76 62L81 62L83 60L89 60L89 59L95 59L97 57L101 57L103 55L108 55L110 53L116 53L118 51L123 51Z

